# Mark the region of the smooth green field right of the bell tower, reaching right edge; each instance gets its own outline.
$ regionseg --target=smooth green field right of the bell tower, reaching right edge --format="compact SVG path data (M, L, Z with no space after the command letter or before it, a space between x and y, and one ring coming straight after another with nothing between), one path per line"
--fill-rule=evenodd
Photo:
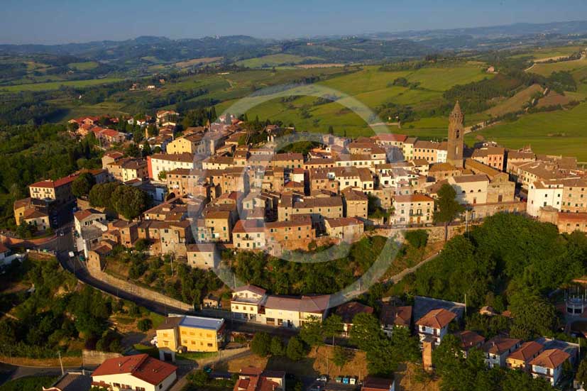
M531 145L536 153L576 156L587 161L587 103L574 109L527 114L517 121L501 123L467 135L469 145L477 135L508 148Z

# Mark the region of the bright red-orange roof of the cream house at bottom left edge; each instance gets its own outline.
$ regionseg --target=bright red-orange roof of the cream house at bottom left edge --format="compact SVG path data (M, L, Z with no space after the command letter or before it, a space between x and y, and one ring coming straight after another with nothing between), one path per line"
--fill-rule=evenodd
M177 367L175 365L156 360L145 353L136 356L109 358L94 370L92 378L128 373L149 384L158 385L175 373L176 370Z

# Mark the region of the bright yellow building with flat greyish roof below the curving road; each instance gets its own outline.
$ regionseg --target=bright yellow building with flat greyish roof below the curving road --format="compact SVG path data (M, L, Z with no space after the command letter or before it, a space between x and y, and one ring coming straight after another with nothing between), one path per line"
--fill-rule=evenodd
M168 351L219 351L225 340L224 319L169 316L157 328L157 347Z

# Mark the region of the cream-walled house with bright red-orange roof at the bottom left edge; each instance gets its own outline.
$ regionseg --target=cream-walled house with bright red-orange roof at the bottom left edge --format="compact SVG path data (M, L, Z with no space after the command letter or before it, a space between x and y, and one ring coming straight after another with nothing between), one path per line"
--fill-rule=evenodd
M148 354L109 358L92 373L92 385L106 390L166 391L177 379L177 367Z

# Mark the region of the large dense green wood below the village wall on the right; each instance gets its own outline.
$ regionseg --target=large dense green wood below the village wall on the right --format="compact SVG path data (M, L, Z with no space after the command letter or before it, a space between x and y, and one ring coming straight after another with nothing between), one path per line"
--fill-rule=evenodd
M552 224L497 214L446 243L441 255L403 283L410 294L510 309L513 321L496 317L498 323L489 324L471 316L471 329L530 339L554 334L558 321L546 294L584 275L586 267L583 234L559 235Z

